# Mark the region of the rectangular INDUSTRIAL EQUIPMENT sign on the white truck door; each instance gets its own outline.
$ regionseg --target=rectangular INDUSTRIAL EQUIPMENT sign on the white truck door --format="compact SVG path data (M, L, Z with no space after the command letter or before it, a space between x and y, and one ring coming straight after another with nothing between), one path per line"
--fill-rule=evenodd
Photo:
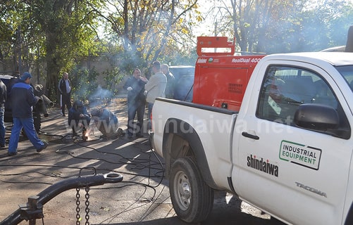
M321 149L300 143L282 141L280 143L280 159L318 170Z

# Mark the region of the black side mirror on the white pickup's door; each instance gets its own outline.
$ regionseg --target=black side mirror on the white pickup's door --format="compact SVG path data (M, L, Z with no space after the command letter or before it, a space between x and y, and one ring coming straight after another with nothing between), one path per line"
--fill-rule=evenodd
M331 133L338 128L340 117L337 110L330 106L308 103L299 105L294 122L298 127Z

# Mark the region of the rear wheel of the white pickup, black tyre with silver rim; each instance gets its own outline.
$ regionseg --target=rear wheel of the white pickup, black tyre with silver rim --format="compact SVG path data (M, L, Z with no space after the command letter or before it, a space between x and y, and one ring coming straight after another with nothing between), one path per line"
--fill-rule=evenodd
M213 189L202 179L194 160L175 160L170 177L169 192L178 217L187 223L204 221L213 207Z

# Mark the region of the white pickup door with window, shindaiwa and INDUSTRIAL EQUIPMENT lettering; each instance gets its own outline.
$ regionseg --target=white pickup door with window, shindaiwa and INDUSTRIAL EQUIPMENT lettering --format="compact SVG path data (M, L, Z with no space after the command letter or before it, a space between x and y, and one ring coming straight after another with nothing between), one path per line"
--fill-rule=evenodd
M247 98L258 99L257 104L247 103L237 117L235 191L289 223L341 224L352 158L352 114L345 97L328 73L314 65L276 61L264 69L264 81L254 84ZM303 103L335 108L338 129L349 135L297 127L293 118Z

